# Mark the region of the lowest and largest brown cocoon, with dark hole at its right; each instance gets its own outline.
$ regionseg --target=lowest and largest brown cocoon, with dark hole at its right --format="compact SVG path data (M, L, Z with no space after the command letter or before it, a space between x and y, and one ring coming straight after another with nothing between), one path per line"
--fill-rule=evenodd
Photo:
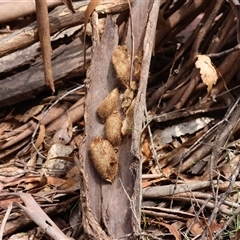
M111 143L101 137L94 138L90 145L90 157L98 174L112 183L118 172L118 160Z

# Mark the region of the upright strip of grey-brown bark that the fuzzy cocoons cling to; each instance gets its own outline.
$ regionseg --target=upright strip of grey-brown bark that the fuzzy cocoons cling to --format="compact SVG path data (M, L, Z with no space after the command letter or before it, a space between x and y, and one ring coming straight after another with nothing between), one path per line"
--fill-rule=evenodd
M145 122L145 93L159 6L160 1L158 0L136 0L132 3L131 17L129 17L127 37L124 43L131 56L134 57L139 52L143 52L143 59L139 88L135 98L132 136L123 138L117 153L119 171L112 184L97 174L89 158L89 146L92 139L104 135L104 125L100 123L96 115L97 107L111 90L118 87L111 58L119 44L119 36L118 26L111 16L107 17L101 40L94 47L91 66L87 74L86 138L82 155L89 191L85 193L85 196L87 196L88 206L95 215L96 221L110 238L140 233L140 137ZM131 51L134 51L133 54Z

